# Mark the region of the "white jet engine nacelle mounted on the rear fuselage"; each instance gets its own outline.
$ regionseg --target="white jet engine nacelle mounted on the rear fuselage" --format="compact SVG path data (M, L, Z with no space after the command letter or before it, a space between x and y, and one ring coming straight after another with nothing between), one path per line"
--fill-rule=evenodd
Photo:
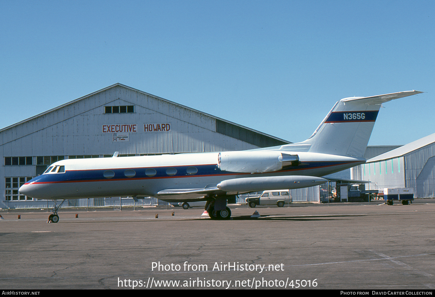
M218 155L219 168L230 172L272 172L298 164L298 155L288 155L280 152L220 152Z

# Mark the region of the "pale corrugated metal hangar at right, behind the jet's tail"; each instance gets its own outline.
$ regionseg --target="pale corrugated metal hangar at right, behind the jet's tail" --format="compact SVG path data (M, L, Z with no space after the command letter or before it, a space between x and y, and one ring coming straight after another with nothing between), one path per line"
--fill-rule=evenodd
M414 188L415 197L435 197L435 134L395 148L351 168L351 178L370 189Z

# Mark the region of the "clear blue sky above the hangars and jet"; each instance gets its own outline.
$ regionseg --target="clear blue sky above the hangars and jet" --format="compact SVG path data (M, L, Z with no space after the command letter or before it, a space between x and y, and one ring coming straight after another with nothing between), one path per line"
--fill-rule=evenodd
M114 83L276 137L341 98L385 103L369 145L435 133L435 1L0 0L6 127Z

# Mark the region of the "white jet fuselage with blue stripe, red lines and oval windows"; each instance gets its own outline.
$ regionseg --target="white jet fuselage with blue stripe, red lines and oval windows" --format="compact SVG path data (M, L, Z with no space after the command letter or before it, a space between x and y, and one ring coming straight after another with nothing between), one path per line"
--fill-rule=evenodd
M319 177L365 162L364 158L339 155L310 152L285 153L298 155L298 165L273 172L253 173L222 170L218 162L218 152L67 159L50 165L54 168L51 172L33 178L20 188L20 192L38 199L151 196L166 201L186 201L201 195L191 193L168 197L159 195L158 192L166 189L198 189L209 185L216 186L221 181L234 178L285 175ZM59 169L61 166L64 168Z

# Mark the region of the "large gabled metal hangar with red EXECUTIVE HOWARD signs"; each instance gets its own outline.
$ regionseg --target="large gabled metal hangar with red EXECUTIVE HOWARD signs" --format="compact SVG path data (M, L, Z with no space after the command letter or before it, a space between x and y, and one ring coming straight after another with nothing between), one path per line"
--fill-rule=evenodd
M291 143L115 84L0 130L1 208L33 201L18 188L65 158L235 151Z

